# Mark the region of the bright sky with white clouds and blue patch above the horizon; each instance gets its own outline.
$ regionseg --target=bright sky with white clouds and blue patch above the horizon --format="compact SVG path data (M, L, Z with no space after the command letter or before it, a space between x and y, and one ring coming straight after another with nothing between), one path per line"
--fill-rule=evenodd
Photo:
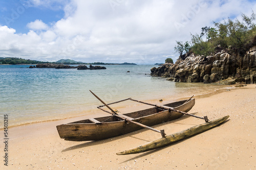
M136 64L176 61L176 41L256 12L249 0L1 0L0 57Z

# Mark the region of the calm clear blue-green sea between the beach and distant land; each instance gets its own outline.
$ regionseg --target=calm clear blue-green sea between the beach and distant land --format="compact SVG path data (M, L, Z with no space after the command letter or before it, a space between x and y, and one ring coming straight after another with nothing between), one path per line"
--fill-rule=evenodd
M16 126L92 114L102 104L89 90L111 103L126 98L174 100L223 88L151 77L155 65L104 66L102 70L77 70L0 65L0 113L8 114L9 126ZM0 121L3 128L3 117Z

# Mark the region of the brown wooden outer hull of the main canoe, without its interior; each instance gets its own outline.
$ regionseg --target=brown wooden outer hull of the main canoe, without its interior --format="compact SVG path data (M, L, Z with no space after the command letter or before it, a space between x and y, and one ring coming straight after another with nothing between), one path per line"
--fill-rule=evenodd
M191 99L187 103L184 101L178 101L165 106L174 107L177 110L188 112L194 105L195 99ZM137 112L126 113L123 115L134 118L134 122L141 123L146 126L154 126L170 120L177 119L183 114L170 111L161 110L157 112L158 108L150 108ZM159 110L158 110L159 111ZM124 120L116 120L112 116L95 118L100 122L102 120L110 118L110 122L103 123L88 123L88 120L80 120L69 124L63 124L57 126L57 130L60 138L71 141L89 141L89 140L102 140L111 137L120 136L136 130L142 129L142 127L127 123ZM112 121L112 120L113 121Z

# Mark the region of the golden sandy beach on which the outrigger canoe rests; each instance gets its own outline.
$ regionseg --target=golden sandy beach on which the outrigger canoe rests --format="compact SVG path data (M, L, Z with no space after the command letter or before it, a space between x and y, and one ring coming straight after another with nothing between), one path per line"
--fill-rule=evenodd
M189 113L207 115L211 120L230 115L229 120L168 147L120 156L116 153L161 135L143 129L101 141L59 138L56 125L86 116L13 127L9 129L8 166L3 161L4 131L0 131L0 169L256 169L255 84L195 98ZM154 128L171 134L202 123L202 119L182 116Z

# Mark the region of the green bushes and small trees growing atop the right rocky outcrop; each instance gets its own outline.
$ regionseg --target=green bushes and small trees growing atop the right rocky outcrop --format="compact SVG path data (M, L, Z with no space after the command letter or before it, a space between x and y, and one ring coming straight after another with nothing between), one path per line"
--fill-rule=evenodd
M200 35L191 34L190 42L186 41L183 44L182 41L176 41L174 50L180 56L185 52L206 57L221 50L244 55L252 46L253 38L256 35L254 20L255 14L252 11L251 16L242 14L242 21L228 18L223 22L215 22L215 28L206 26L201 29Z

